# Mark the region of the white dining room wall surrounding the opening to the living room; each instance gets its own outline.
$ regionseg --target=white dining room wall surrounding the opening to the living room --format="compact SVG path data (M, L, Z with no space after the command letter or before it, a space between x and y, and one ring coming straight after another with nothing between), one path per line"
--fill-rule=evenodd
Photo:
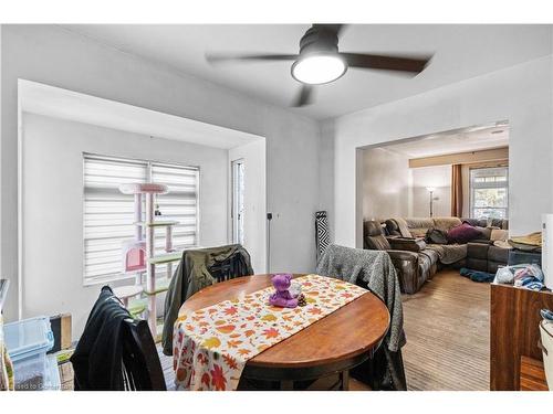
M553 211L552 68L547 56L335 119L336 243L362 245L358 147L501 119L510 123L510 227L538 231Z

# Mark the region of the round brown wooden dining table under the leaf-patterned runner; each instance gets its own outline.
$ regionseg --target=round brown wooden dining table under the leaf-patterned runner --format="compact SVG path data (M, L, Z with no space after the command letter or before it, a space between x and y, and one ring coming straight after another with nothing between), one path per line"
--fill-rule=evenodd
M300 274L294 277L303 276ZM182 304L179 315L233 299L271 285L271 275L254 275L218 283L201 289ZM279 383L340 374L340 388L348 388L348 370L365 362L378 348L389 327L389 312L374 294L366 293L250 359L242 380Z

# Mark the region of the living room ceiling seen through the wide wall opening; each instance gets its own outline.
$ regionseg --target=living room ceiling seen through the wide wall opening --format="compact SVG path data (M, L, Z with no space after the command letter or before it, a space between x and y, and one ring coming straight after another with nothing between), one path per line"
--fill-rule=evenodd
M382 148L413 159L507 146L509 146L509 126L502 125L434 134Z

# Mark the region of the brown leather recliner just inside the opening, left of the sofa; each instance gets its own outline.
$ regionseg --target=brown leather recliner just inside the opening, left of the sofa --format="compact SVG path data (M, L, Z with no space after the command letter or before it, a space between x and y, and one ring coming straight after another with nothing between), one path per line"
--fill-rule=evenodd
M403 293L415 294L437 272L438 255L421 240L386 238L377 221L363 223L364 248L386 251L396 268Z

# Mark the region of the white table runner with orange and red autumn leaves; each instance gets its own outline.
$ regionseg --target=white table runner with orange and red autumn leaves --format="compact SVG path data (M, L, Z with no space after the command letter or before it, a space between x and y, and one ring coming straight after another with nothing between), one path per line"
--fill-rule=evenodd
M236 390L249 359L368 291L319 275L293 282L302 285L304 307L270 306L271 286L179 317L173 352L177 390Z

